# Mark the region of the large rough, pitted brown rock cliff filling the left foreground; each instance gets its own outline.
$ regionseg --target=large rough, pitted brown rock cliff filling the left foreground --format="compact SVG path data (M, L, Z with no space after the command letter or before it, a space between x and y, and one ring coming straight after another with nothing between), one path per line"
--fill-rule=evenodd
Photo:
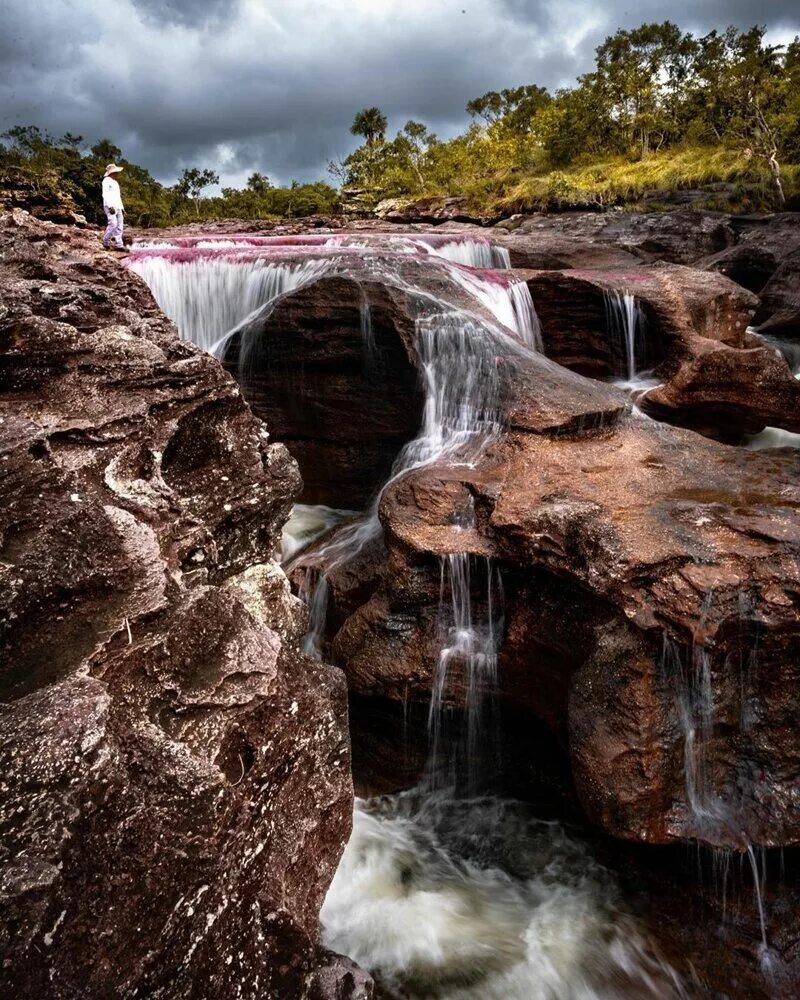
M0 241L0 992L366 997L318 945L352 785L272 562L297 466L92 237Z

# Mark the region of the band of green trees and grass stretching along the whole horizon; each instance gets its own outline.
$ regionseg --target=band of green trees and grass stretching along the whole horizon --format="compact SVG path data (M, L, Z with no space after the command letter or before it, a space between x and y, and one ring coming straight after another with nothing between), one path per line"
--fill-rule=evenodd
M330 170L342 198L462 196L478 213L674 203L700 189L704 207L755 209L800 201L800 39L767 45L765 29L728 28L701 38L669 21L620 30L596 50L595 67L554 94L535 84L469 101L466 131L441 141L409 121L392 139L379 108L350 131L364 139ZM35 126L2 137L0 173L15 167L41 188L69 194L102 222L100 181L125 167L128 218L164 226L210 218L300 217L340 208L329 184L273 187L253 173L242 189L204 192L219 179L200 167L165 187L102 139L60 139Z

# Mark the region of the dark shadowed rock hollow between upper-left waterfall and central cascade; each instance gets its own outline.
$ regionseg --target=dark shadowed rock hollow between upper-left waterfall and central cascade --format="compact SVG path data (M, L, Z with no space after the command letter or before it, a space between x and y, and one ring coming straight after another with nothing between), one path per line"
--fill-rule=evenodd
M363 508L389 478L422 409L413 331L404 293L323 277L231 341L225 363L298 461L305 502Z

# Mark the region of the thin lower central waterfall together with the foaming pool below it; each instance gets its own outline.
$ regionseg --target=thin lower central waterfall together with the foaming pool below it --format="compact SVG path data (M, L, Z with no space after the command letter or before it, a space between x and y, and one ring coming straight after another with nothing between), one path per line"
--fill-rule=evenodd
M685 996L581 840L488 791L503 628L490 561L442 558L439 619L425 775L356 801L324 942L411 1000Z

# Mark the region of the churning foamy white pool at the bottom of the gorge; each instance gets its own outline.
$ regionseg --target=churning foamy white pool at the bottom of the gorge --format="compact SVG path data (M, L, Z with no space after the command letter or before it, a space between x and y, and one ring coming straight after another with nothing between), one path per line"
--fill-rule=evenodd
M411 1000L685 995L585 847L496 798L357 801L321 920Z

